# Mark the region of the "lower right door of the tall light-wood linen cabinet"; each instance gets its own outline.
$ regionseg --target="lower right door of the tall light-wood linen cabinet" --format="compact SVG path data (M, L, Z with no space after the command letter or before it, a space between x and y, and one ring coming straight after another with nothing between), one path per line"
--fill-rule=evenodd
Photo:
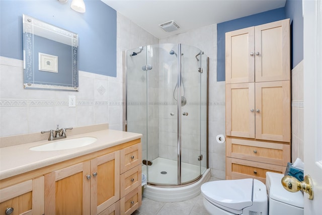
M256 139L290 142L290 82L255 85Z

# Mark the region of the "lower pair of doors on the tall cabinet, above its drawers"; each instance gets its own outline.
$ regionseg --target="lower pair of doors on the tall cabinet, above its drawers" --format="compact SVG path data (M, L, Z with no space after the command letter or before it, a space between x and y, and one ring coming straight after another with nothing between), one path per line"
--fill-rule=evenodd
M226 135L290 142L290 81L226 85Z

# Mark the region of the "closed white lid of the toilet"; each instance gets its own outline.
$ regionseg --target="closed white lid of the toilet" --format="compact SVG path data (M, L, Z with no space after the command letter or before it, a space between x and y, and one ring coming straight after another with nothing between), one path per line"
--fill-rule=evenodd
M253 204L253 179L209 181L201 185L201 192L210 201L241 210Z

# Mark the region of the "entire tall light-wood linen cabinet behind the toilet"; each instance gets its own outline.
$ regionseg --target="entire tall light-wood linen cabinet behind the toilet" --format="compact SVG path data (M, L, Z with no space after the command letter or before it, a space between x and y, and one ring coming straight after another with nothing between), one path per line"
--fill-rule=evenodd
M290 21L227 32L226 179L284 173L290 161Z

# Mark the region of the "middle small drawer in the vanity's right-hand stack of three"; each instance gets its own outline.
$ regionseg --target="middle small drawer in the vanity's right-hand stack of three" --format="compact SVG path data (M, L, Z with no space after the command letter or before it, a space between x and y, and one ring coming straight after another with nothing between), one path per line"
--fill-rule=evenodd
M125 173L120 177L120 194L121 198L130 193L132 190L141 186L142 181L142 167L138 165Z

